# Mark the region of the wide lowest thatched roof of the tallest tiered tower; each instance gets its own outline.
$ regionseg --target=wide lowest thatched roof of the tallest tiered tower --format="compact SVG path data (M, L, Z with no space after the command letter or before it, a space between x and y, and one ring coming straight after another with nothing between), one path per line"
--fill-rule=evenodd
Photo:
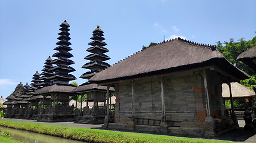
M38 89L34 92L34 95L39 95L39 94L50 94L53 92L63 92L63 93L72 93L73 89L76 88L73 85L50 85L46 86L44 88Z

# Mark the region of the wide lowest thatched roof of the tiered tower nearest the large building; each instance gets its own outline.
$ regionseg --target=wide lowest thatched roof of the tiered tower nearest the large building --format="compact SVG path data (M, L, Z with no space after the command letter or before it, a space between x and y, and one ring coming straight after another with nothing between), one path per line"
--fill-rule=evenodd
M77 86L73 92L86 92L86 91L94 91L94 90L97 90L97 91L107 91L107 86L99 86L95 83L83 83L82 85L79 85ZM109 89L110 92L113 92L115 91L114 88L110 88Z

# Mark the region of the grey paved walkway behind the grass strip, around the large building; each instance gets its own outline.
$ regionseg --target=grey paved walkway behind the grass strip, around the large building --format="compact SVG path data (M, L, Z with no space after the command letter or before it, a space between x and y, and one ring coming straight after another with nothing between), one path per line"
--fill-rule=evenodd
M70 127L77 127L77 128L89 128L89 129L103 129L101 128L102 125L89 125L89 124L77 124L73 122L37 122L36 120L24 120L24 119L0 119L0 120L11 120L11 121L19 121L19 122L29 122L29 123L41 123L47 125L60 125L60 126L70 126ZM234 141L234 142L256 142L256 130L254 131L246 131L243 130L243 126L245 126L244 120L239 120L239 129L231 130L230 132L224 133L220 136L207 138L207 139L218 139L224 141ZM148 132L147 132L148 133ZM193 138L193 136L187 136L189 138ZM197 137L196 137L197 138Z

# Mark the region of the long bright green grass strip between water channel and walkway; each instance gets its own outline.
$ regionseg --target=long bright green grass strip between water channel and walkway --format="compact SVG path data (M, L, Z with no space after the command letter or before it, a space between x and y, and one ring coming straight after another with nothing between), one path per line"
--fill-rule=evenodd
M228 142L0 120L1 126L86 142Z

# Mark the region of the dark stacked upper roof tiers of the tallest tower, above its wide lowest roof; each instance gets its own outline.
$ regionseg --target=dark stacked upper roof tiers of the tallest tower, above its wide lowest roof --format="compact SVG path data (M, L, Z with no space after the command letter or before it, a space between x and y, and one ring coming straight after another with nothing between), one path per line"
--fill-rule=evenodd
M51 64L56 64L57 66L52 67L48 70L50 72L55 72L55 75L50 76L47 79L53 80L54 84L58 83L61 85L68 85L68 82L70 80L76 79L76 77L72 74L68 74L72 71L76 71L73 67L69 66L71 64L74 64L74 61L68 60L68 58L73 57L73 55L68 52L72 50L72 48L69 47L71 43L68 42L71 39L69 37L70 33L68 33L68 31L70 31L70 29L68 29L68 27L70 27L70 24L68 24L65 20L64 23L62 23L60 26L61 29L59 30L61 30L61 32L58 33L58 35L60 36L57 38L59 39L59 41L56 43L56 45L59 46L55 48L55 50L59 52L53 54L53 57L57 57L58 59L50 62Z

